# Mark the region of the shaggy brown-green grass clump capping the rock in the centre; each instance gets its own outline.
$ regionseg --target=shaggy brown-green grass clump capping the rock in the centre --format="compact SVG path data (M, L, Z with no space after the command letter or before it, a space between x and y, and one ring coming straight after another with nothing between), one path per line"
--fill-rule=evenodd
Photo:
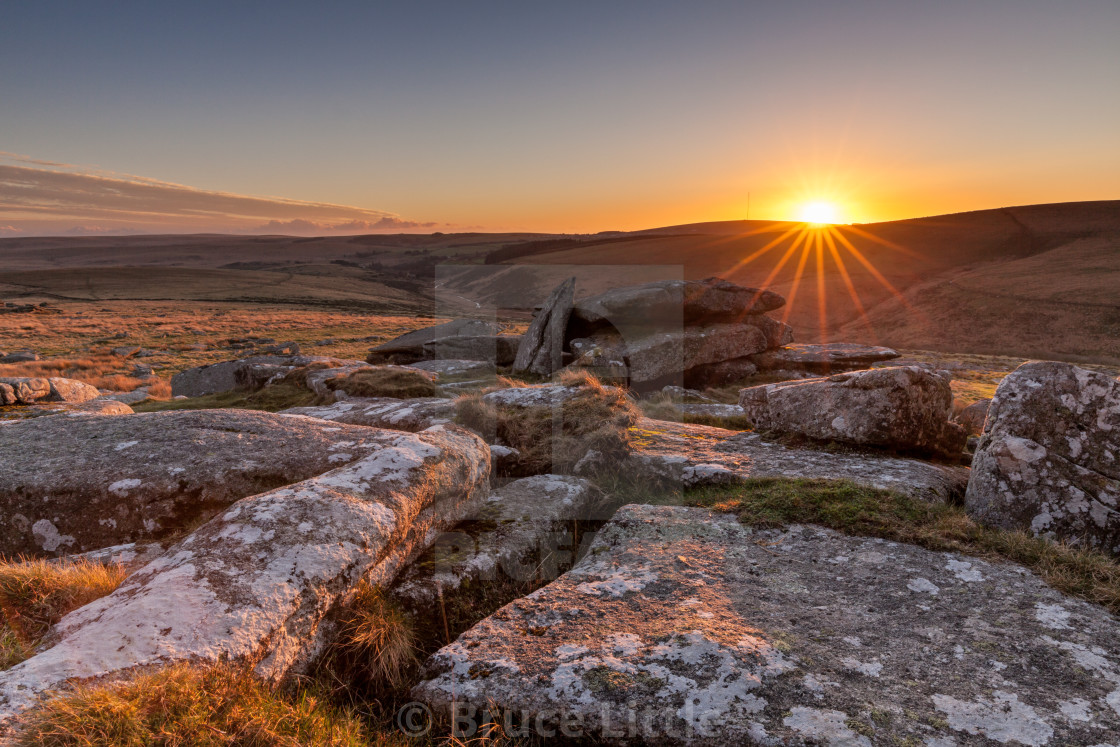
M495 407L484 399L485 392L469 394L456 401L456 419L487 440L517 450L511 475L564 473L588 451L603 455L604 464L625 458L628 429L640 414L626 393L586 372L562 374L557 382L580 391L556 409Z

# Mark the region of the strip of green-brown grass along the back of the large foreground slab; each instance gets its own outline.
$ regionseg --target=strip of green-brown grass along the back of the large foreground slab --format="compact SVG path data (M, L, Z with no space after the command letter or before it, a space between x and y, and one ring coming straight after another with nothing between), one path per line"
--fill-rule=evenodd
M982 526L961 506L924 503L848 480L780 477L689 491L681 502L738 514L750 526L818 524L928 550L1010 560L1060 591L1120 613L1120 562L1096 550Z

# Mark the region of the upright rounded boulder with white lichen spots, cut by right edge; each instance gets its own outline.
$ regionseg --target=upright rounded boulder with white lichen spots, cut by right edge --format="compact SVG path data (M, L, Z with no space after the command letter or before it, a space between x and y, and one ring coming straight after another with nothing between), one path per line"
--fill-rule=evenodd
M1120 554L1120 381L1048 362L1008 374L965 507L986 524Z

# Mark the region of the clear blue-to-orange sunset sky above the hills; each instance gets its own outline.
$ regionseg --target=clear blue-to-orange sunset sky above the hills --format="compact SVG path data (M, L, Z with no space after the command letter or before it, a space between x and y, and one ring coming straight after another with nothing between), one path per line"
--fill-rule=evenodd
M1116 0L8 0L0 236L1117 199L1117 39Z

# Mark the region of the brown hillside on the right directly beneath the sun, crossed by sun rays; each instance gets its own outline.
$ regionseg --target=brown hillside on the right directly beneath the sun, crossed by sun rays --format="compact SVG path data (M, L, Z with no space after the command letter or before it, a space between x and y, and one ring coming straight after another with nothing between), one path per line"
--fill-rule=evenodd
M644 241L587 242L513 263L569 265L580 276L578 295L656 274L653 267L665 277L720 274L758 286L793 237L743 261L800 227L762 221L669 226L641 232ZM880 277L837 239L849 288L827 239L811 232L809 250L791 253L768 283L792 299L788 320L800 340L1120 361L1120 202L977 211L837 231Z

